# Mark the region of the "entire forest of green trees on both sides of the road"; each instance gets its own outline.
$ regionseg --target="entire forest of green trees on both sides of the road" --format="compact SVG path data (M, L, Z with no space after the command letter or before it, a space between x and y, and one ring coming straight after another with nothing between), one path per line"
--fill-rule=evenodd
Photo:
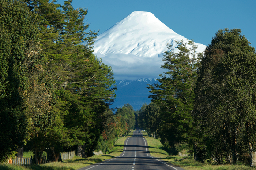
M30 150L34 162L81 148L108 153L135 128L169 154L256 164L256 52L241 29L220 29L204 53L193 40L167 44L151 103L111 109L115 80L93 54L87 9L55 0L0 1L0 162ZM174 52L177 49L178 52Z

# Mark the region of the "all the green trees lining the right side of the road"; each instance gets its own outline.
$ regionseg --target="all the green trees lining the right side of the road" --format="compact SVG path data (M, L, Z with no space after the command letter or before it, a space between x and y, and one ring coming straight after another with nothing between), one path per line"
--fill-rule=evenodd
M256 53L240 29L219 30L204 54L193 41L168 44L159 83L139 125L166 148L188 145L194 159L256 163Z

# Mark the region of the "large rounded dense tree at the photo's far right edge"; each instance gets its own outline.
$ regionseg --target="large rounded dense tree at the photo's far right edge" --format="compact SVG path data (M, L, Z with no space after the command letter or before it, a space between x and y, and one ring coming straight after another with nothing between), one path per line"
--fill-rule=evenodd
M219 30L201 63L193 114L207 153L217 163L235 164L249 145L247 153L252 158L256 134L254 48L240 29Z

